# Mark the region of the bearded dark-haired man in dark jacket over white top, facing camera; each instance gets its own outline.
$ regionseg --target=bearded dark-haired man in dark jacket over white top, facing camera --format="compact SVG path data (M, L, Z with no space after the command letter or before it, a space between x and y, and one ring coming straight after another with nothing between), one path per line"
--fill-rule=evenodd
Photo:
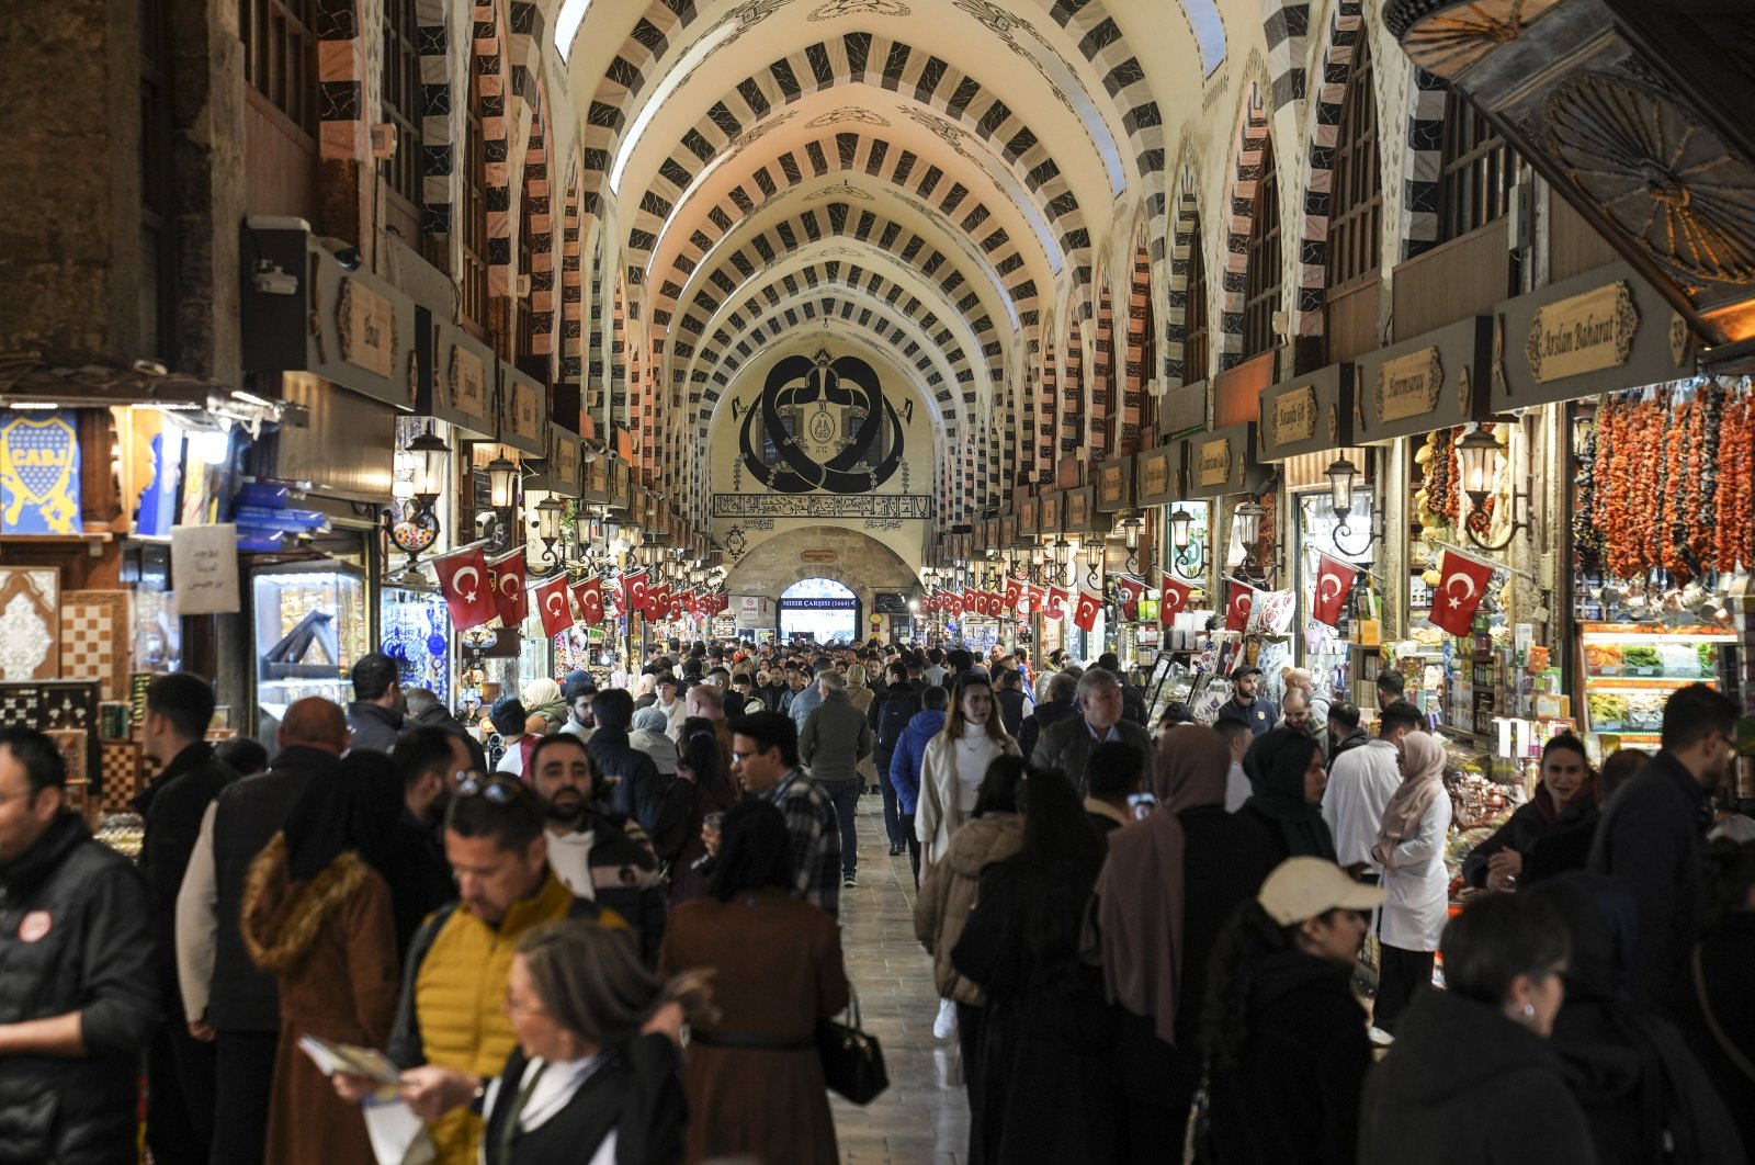
M634 923L641 960L656 965L665 925L658 860L597 811L597 770L584 742L558 733L542 737L525 775L542 804L549 868L576 897ZM684 779L684 786L691 790L693 783Z

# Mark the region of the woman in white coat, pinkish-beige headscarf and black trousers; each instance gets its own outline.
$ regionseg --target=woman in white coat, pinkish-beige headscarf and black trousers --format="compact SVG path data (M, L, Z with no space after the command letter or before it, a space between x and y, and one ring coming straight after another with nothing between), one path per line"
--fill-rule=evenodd
M1388 891L1378 926L1383 954L1372 1011L1372 1021L1385 1032L1395 1032L1415 990L1430 986L1432 953L1450 909L1444 746L1432 733L1409 732L1397 767L1402 783L1383 809L1378 844L1371 847L1371 856L1383 865L1383 888Z

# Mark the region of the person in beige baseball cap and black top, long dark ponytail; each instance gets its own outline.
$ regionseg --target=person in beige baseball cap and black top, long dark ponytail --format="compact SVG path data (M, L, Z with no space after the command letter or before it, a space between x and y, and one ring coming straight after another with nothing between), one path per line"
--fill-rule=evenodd
M1244 1165L1353 1165L1371 1065L1351 976L1383 891L1286 858L1213 947L1207 1149Z

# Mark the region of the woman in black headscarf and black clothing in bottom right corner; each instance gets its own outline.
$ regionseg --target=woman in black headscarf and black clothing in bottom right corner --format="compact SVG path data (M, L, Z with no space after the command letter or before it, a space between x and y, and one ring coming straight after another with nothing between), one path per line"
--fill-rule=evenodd
M1601 874L1571 872L1529 893L1553 905L1572 940L1565 1002L1548 1039L1585 1111L1597 1160L1746 1161L1737 1128L1681 1032L1629 997L1627 890Z

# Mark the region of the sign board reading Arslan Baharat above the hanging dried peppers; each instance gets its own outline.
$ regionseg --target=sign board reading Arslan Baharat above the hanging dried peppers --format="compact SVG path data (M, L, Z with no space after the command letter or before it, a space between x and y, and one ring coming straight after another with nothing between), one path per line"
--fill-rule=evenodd
M1694 375L1687 323L1627 263L1494 309L1494 411L1578 400Z

